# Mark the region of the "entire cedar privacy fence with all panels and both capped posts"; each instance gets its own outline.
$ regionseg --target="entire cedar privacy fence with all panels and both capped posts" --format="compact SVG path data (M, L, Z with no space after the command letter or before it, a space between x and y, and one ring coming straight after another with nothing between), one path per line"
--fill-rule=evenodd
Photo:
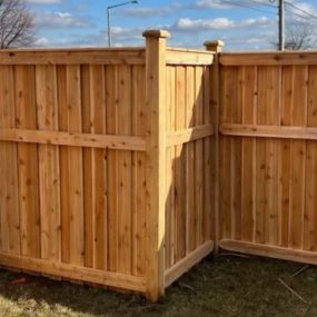
M0 52L0 265L164 295L214 249L317 262L317 53Z

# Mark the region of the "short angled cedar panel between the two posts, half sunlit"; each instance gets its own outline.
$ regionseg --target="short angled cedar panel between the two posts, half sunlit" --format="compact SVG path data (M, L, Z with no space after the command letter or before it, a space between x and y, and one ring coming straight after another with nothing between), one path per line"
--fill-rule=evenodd
M196 262L192 257L201 258L214 248L212 53L196 55L197 60L192 61L190 51L167 51L166 285ZM184 61L177 62L177 56ZM205 60L208 58L209 62Z

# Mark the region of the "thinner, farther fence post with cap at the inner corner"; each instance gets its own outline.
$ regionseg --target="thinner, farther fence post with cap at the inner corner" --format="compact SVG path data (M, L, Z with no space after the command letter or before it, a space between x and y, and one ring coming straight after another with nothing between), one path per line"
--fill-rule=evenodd
M208 51L215 52L214 65L211 67L210 73L210 85L211 87L211 106L214 115L214 126L215 126L215 205L214 205L214 230L215 230L215 254L219 251L219 108L220 108L220 69L219 69L219 53L222 50L225 43L222 41L206 41L204 43Z

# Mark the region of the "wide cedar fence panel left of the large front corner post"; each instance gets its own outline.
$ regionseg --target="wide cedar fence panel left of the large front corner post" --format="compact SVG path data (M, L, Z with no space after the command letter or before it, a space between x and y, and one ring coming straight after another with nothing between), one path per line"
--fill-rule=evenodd
M0 262L145 293L145 49L73 55L1 60Z

